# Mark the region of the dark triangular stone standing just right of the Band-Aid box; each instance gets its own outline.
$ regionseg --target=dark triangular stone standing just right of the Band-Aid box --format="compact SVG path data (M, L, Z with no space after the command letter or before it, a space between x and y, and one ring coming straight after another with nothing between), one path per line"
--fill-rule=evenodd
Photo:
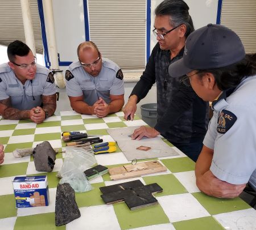
M68 183L57 186L55 202L55 225L61 226L80 218L81 214L75 199L75 191Z

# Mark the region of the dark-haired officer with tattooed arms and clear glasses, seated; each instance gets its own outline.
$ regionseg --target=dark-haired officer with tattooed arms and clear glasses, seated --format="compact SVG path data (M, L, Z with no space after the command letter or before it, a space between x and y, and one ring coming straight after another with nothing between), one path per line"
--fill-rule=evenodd
M9 62L0 65L0 114L10 120L43 122L56 109L53 74L36 64L22 41L11 42L7 54Z

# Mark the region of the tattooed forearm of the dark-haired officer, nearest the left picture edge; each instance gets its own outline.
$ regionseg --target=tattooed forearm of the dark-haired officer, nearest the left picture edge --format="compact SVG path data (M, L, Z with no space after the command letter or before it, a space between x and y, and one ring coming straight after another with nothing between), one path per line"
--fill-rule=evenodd
M30 110L19 110L11 107L10 97L0 100L0 114L9 120L21 120L29 118Z

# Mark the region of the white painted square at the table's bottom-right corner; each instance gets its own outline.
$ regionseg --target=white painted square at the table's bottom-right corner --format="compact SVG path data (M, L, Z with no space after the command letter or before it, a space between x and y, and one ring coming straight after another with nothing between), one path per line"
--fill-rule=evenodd
M255 230L256 212L253 208L213 216L226 229Z

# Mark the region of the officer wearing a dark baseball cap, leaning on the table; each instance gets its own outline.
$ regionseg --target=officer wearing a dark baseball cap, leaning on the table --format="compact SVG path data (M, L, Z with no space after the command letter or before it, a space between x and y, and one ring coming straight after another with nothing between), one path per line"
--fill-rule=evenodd
M198 188L213 197L237 197L247 182L256 190L255 63L236 33L208 24L188 36L183 58L169 67L170 76L183 76L198 96L213 101L195 169Z

